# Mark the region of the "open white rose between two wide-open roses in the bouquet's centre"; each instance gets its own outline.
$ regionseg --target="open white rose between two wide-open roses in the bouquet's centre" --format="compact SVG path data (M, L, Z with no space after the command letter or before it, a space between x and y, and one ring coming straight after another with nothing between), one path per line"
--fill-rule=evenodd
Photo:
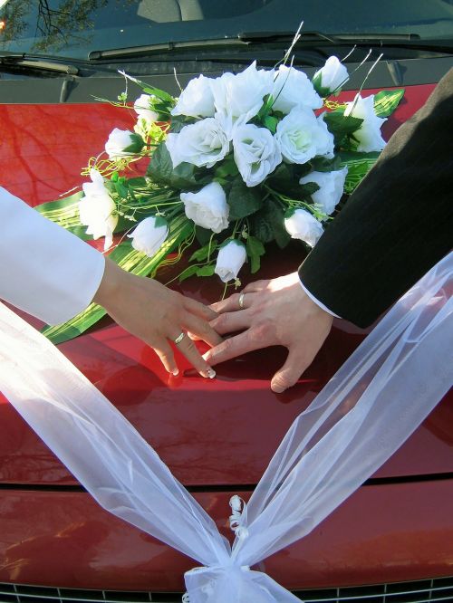
M263 182L282 161L282 153L271 132L251 123L235 129L233 148L237 169L247 187Z

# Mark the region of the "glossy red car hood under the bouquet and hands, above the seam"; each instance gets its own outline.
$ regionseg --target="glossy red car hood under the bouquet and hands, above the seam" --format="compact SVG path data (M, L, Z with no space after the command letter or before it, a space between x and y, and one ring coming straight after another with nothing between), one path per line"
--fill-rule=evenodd
M384 125L384 137L428 98L432 85L410 86ZM345 100L352 98L345 92ZM35 206L80 186L90 154L103 148L114 127L130 127L128 111L107 104L0 106L2 185ZM20 242L18 242L20 243ZM417 250L414 250L417 253ZM266 275L290 272L300 248L275 252ZM282 269L284 265L284 269ZM166 273L160 274L165 282ZM216 282L188 281L182 289L212 302ZM36 321L34 321L37 324ZM269 379L284 361L283 349L265 349L217 367L217 378L188 369L169 378L152 349L109 320L64 343L63 353L120 408L183 483L215 487L256 483L284 433L323 388L366 331L338 321L299 383L282 395ZM439 404L377 478L453 472L453 397ZM0 397L0 482L71 484L73 478Z

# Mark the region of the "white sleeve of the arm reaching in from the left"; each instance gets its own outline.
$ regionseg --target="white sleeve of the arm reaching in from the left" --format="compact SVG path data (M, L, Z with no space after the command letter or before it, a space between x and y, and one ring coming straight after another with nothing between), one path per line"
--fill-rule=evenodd
M103 255L0 187L0 298L48 324L84 310L101 284Z

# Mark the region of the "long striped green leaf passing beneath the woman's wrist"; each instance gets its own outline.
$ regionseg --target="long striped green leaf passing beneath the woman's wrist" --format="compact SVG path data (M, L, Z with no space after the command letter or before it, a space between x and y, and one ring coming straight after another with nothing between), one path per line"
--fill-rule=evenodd
M178 248L178 245L192 232L193 225L191 221L188 220L186 215L178 215L170 225L167 240L153 257L148 257L135 251L129 242L118 245L109 257L130 273L140 276L147 276L148 274L154 276L159 268L159 264L162 263L170 252ZM42 332L53 343L63 343L63 341L72 340L74 337L81 335L97 321L100 321L105 313L105 310L101 306L92 303L86 310L74 316L71 321L54 327L44 327Z

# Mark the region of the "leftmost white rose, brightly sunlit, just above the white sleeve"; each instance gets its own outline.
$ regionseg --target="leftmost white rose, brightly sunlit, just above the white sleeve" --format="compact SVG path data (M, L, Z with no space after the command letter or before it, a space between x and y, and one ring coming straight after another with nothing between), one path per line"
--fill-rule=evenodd
M109 191L104 187L104 179L96 170L90 171L92 182L82 185L82 200L79 203L79 213L82 225L88 226L87 235L93 239L105 236L104 250L109 249L113 242L113 231L118 224L118 215L115 215L115 202Z

